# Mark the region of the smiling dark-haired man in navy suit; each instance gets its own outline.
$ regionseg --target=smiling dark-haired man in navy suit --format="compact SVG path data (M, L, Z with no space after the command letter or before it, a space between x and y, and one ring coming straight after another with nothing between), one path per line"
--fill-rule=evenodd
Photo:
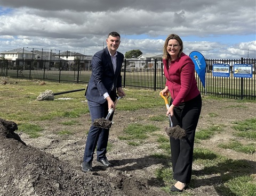
M122 89L121 67L124 55L117 52L121 42L117 32L110 32L106 40L107 47L95 53L92 57L92 75L85 91L91 114L92 124L95 119L106 118L108 111L114 108L114 101L118 96L125 96ZM114 114L114 113L113 113ZM113 119L113 114L109 120ZM87 135L82 163L82 171L92 171L92 160L97 147L97 161L103 166L111 167L106 153L109 129L91 126Z

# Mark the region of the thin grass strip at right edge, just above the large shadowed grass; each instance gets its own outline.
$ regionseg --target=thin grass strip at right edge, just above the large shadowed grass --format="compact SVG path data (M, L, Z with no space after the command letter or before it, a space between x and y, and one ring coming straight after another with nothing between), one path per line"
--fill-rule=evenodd
M256 151L255 143L248 143L248 144L243 145L239 141L231 141L229 143L221 143L218 146L221 148L232 149L237 152L243 152L246 154L254 154Z

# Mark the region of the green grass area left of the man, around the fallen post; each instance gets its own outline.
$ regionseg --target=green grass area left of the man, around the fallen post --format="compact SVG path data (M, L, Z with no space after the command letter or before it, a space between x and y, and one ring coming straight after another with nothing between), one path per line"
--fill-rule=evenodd
M12 82L13 80L13 82ZM81 84L61 84L46 82L40 86L38 82L30 80L9 79L10 84L0 86L1 117L10 121L43 121L57 117L77 117L89 112L85 103L82 103L84 91L54 96L53 101L37 101L41 92L47 89L53 92L81 89ZM58 100L59 97L70 97L70 100ZM10 104L11 103L11 104ZM6 108L8 108L6 110ZM19 109L17 109L19 108Z

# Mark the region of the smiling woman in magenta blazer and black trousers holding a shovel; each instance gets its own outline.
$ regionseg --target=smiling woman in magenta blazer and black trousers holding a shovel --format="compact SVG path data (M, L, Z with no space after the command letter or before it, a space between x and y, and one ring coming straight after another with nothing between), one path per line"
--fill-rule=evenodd
M173 126L186 131L186 138L170 137L173 178L171 191L181 192L191 180L195 131L202 108L201 94L195 79L195 65L182 52L183 42L178 35L169 35L163 46L166 84L163 95L170 93L171 102L166 115L171 114Z

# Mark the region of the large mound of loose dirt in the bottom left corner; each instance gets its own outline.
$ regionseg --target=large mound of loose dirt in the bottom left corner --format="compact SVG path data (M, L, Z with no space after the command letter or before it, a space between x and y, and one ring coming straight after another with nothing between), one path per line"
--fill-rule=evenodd
M44 151L26 145L17 124L0 118L0 195L167 195L119 173L83 173Z

